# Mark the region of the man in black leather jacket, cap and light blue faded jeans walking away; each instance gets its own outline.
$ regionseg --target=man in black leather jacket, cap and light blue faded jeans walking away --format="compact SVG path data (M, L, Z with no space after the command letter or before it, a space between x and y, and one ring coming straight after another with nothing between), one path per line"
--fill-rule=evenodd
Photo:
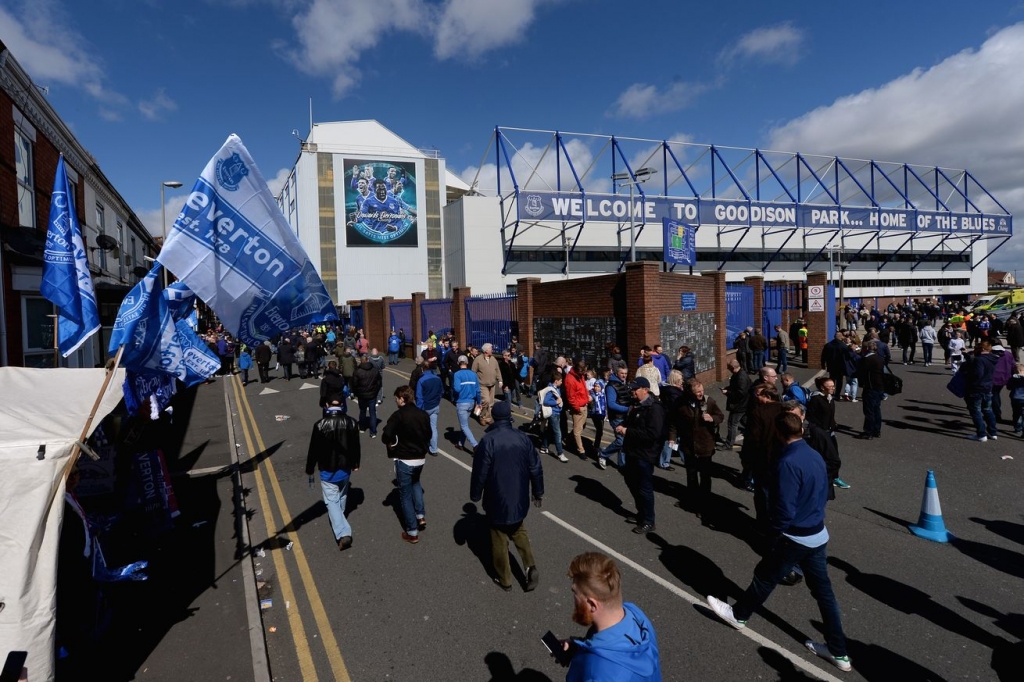
M319 468L321 489L338 548L352 546L352 527L345 518L349 479L359 470L359 427L342 412L338 400L331 402L324 418L313 425L306 455L306 475L313 486L313 467Z

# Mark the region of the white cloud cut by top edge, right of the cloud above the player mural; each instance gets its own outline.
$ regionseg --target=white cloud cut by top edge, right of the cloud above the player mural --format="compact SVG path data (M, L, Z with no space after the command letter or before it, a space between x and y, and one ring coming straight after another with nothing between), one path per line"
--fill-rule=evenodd
M434 28L434 55L474 58L519 42L544 0L446 0Z

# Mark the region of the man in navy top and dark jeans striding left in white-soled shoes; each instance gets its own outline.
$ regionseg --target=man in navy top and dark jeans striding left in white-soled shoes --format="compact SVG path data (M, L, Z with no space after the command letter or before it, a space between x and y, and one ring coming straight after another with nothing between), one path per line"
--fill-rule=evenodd
M771 550L754 568L754 580L743 596L732 606L722 599L708 597L708 605L722 621L736 630L771 596L794 566L804 570L811 595L818 602L824 624L825 643L808 640L807 648L841 671L852 670L846 651L846 635L839 603L828 580L828 530L825 528L825 503L831 481L824 460L803 438L800 417L783 412L775 420L775 429L785 444L775 465L771 492L771 528L777 535Z

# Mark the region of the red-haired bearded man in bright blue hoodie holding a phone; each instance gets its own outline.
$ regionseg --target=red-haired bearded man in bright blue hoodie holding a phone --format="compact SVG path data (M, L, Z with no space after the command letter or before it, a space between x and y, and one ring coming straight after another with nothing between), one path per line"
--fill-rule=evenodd
M583 639L562 642L570 657L566 682L617 680L660 682L662 663L654 626L636 604L623 602L623 577L600 552L581 554L569 564L572 621L589 628Z

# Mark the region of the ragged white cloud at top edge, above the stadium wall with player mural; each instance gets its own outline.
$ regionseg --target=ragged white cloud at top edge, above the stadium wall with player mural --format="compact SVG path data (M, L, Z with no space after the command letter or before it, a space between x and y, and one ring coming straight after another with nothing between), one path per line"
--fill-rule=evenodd
M428 14L423 0L312 0L292 18L298 47L279 51L304 73L333 77L340 97L359 82L368 50L395 32L425 31Z

